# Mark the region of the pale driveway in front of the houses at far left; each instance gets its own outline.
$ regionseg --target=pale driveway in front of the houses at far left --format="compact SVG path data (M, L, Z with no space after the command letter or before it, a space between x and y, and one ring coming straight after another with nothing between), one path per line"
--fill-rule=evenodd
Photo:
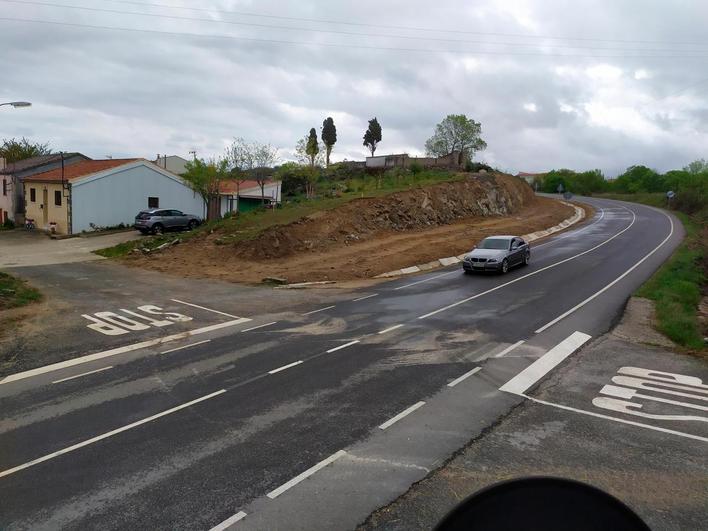
M0 269L103 260L92 251L140 237L137 231L127 231L51 240L40 232L22 229L0 231Z

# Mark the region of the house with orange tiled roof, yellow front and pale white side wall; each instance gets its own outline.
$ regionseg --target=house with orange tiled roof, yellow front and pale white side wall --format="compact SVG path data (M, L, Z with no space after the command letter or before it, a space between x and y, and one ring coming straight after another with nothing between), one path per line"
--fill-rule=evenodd
M204 217L204 201L180 177L144 159L87 160L23 179L27 218L60 234L132 225L148 208Z

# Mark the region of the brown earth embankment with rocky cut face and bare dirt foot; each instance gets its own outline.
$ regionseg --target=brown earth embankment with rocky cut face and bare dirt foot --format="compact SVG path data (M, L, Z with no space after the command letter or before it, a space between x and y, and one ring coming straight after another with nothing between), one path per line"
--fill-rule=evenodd
M475 174L464 181L356 199L339 208L263 231L258 238L218 245L218 234L129 264L171 274L233 282L267 276L289 282L370 278L469 250L489 234L526 234L560 223L573 209L537 198L509 175Z

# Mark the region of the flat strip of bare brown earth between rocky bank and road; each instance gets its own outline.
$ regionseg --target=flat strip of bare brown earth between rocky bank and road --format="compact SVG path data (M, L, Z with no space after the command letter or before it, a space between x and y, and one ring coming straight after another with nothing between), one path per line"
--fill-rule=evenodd
M401 267L461 254L490 234L527 234L556 225L573 215L573 208L546 198L534 198L513 216L473 217L432 229L383 232L361 242L340 242L326 251L312 250L286 258L245 260L225 246L205 240L177 246L153 256L130 257L128 265L186 277L231 282L260 282L284 277L289 282L370 278Z

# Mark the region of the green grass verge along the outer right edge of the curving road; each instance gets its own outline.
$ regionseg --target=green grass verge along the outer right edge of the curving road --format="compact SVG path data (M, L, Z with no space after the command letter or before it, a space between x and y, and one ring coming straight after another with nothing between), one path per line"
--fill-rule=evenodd
M598 197L666 207L666 196L662 193L602 194ZM676 211L674 214L681 220L686 238L636 295L654 301L657 329L661 333L682 347L702 350L706 345L698 322L698 305L706 283L704 263L708 249L701 227L707 216L705 211L692 216Z

